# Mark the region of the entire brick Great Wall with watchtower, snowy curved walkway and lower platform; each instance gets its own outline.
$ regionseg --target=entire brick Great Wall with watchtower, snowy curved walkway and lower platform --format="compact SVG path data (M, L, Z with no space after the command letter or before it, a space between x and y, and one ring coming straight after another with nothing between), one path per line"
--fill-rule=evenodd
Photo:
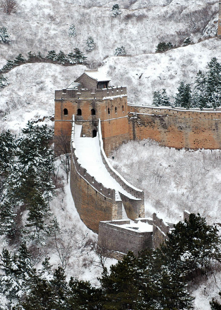
M85 70L67 89L55 91L55 153L66 136L72 197L82 221L98 233L98 245L138 255L158 247L173 224L155 213L144 217L144 192L119 175L107 156L129 139L151 138L178 149L220 149L221 108L128 104L126 86L109 87L110 80L98 70Z

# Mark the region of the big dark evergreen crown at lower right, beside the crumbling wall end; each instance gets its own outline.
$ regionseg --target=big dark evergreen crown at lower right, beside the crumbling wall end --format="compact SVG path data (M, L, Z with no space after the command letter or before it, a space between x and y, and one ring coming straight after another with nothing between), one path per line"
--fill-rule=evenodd
M167 264L183 272L184 277L207 274L213 259L219 259L220 238L215 226L206 224L199 214L190 214L189 220L174 225L169 241L163 246Z

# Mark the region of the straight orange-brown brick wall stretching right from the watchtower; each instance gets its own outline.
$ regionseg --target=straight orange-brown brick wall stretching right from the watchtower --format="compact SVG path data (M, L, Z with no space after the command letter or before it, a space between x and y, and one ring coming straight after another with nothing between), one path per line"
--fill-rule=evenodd
M221 111L128 104L131 139L154 139L173 148L221 148Z

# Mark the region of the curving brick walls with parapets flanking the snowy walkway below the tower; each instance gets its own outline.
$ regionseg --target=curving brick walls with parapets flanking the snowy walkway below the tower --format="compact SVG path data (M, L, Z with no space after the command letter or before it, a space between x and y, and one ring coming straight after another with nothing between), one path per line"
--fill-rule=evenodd
M86 168L80 164L75 139L76 135L78 135L78 138L81 136L82 126L75 124L74 116L72 119L72 124L70 187L76 209L83 222L94 232L98 232L100 221L122 219L122 201L129 217L136 218L138 216L144 216L143 191L130 185L117 173L117 171L113 169L108 162L102 147L103 141L100 120L98 126L100 148L99 154L95 155L102 157L102 162L105 169L107 169L108 177L111 178L110 181L114 179L119 184L116 186L117 190L116 188L113 189L104 186L93 175L88 173ZM85 152L87 152L87 149L85 149ZM96 152L96 149L94 149L94 152ZM88 154L88 156L90 156L90 154ZM99 168L100 167L98 166L98 171ZM110 184L113 184L113 182L110 182Z

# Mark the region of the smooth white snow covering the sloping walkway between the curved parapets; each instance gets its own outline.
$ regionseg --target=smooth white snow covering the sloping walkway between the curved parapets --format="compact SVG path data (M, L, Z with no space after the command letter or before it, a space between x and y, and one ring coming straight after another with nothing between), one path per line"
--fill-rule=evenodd
M122 186L109 174L102 161L98 136L95 138L80 137L81 125L75 124L74 143L76 156L82 167L93 176L99 183L106 188L115 189L115 191L124 194L133 200L139 200L124 190Z

